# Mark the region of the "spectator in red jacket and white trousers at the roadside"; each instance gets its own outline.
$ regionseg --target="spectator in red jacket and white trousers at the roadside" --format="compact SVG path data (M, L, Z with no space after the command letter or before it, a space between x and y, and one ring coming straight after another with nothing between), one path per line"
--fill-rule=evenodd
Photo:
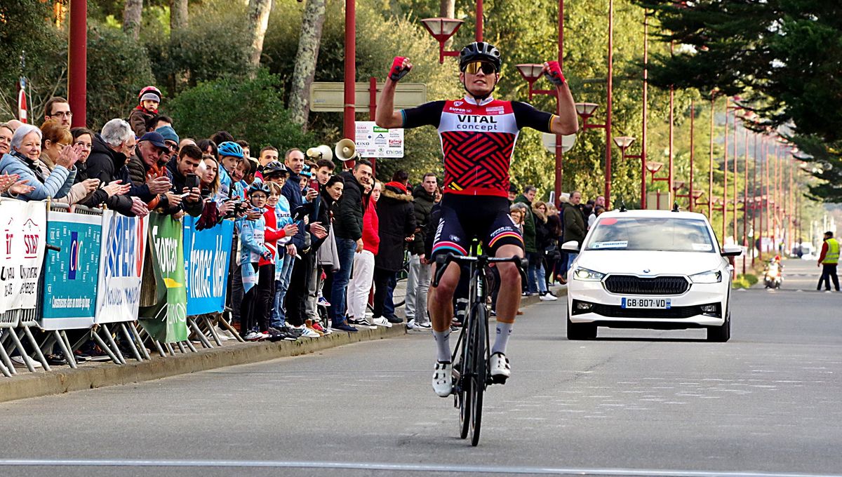
M374 257L380 248L380 221L377 218L377 199L380 199L380 192L383 184L377 182L374 188L370 189L369 184L365 184L365 197L368 198L369 206L365 209L363 215L363 250L354 253L354 273L348 283L348 317L362 320L365 318L365 305L368 304L369 292L371 284L374 281ZM385 319L383 321L386 321ZM392 326L386 321L386 324L375 323L381 326Z

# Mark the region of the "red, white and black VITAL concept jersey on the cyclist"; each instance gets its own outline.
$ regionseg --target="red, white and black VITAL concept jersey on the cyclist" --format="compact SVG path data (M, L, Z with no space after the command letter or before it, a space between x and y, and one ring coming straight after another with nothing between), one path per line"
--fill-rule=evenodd
M445 193L509 194L509 165L520 130L550 132L553 114L518 101L473 98L434 101L403 109L404 128L439 129L445 156Z

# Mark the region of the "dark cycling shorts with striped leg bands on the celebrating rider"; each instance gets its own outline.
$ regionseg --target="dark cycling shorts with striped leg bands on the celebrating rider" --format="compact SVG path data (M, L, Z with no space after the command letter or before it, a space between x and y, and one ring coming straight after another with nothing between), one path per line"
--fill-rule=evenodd
M494 256L504 245L524 247L520 229L509 216L509 199L488 195L445 193L435 231L433 256L454 252L467 255L471 241L482 241L483 253Z

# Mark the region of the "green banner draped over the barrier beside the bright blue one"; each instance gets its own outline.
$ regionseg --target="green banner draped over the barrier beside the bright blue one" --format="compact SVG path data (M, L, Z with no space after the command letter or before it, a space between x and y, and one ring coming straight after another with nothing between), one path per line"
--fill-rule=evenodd
M159 342L187 339L187 291L184 288L181 222L169 215L149 215L147 260L155 275L155 301L140 310L141 325Z

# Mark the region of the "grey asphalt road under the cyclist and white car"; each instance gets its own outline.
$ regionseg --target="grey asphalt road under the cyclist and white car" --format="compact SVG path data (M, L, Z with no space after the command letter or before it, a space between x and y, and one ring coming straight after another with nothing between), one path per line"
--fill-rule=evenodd
M421 334L4 403L0 475L842 473L842 294L735 292L727 343L569 342L563 307L518 322L478 448L430 390Z

